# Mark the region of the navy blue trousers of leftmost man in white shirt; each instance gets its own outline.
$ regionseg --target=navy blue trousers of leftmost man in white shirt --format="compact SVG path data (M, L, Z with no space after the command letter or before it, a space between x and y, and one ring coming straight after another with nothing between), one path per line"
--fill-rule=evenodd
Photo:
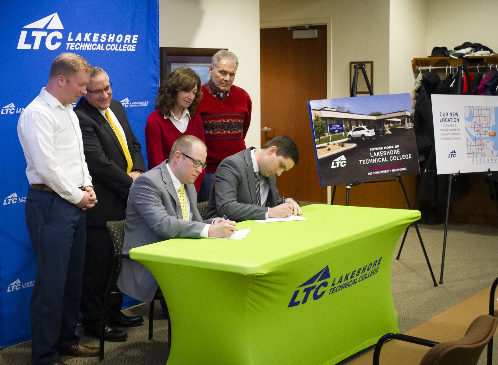
M85 212L55 192L29 189L26 226L36 259L31 296L31 364L60 361L76 333L85 257Z

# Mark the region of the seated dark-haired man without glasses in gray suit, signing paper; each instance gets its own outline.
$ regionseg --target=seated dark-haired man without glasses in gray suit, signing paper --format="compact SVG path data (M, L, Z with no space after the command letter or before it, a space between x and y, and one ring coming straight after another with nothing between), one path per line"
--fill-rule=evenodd
M225 158L216 170L206 218L225 215L236 222L302 214L291 198L280 199L276 176L299 161L296 143L273 138L261 149L249 147Z

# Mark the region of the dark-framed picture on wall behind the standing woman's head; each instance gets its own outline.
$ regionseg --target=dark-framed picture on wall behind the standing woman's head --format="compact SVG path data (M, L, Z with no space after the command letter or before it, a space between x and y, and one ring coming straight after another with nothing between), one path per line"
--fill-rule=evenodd
M228 50L227 48L221 48ZM213 55L220 48L183 48L183 47L160 47L160 79L162 80L170 74L172 70L180 67L190 67L201 78L201 84L209 81L209 65Z

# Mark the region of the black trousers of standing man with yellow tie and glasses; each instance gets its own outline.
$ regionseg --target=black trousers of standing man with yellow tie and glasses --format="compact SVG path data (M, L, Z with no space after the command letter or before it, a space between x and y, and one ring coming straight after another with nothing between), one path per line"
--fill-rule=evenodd
M83 289L81 295L82 325L90 331L100 327L104 297L109 277L112 272L113 240L106 227L87 226L86 228L85 269L83 271ZM112 291L119 291L113 276ZM116 316L123 305L123 296L111 295L109 298L108 318Z

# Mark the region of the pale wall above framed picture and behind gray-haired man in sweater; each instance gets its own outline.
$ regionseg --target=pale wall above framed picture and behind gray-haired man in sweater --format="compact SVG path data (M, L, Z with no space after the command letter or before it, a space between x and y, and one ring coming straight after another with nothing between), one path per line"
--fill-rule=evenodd
M259 1L159 0L159 46L228 48L237 54L234 84L252 100L246 144L259 147Z

